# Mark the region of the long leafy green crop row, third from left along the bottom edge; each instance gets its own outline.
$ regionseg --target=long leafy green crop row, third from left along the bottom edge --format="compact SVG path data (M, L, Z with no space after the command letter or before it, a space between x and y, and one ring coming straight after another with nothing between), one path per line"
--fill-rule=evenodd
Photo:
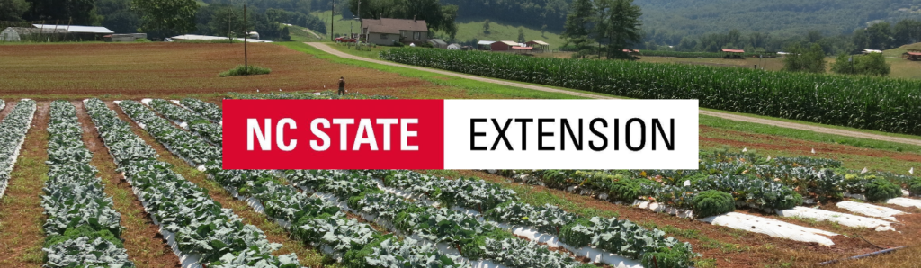
M174 154L183 157L181 151L174 150L183 143L187 143L186 147L196 147L187 151L219 150L199 136L175 134L184 131L139 102L125 100L119 105ZM181 135L183 138L175 138ZM291 234L327 251L348 267L462 266L430 246L412 239L400 240L382 235L367 223L348 219L335 204L324 203L277 181L278 174L272 171L221 169L220 154L207 156L200 162L190 161L190 164L206 163L203 171L229 192L249 195L263 205L267 216L278 220Z

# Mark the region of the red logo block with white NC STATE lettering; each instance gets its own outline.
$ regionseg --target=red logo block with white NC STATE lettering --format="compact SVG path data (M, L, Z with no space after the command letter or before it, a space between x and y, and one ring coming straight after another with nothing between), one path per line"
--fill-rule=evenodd
M224 169L442 169L441 99L226 99Z

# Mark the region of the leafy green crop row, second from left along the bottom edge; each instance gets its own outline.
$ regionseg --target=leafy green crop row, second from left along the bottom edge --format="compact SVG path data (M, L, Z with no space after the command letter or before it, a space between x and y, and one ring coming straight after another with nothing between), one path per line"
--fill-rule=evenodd
M243 224L239 216L221 207L204 189L157 160L157 152L132 133L131 126L105 103L87 99L85 107L119 170L181 257L183 266L194 262L215 268L297 267L297 256L273 256L271 252L280 244L270 243L258 227Z

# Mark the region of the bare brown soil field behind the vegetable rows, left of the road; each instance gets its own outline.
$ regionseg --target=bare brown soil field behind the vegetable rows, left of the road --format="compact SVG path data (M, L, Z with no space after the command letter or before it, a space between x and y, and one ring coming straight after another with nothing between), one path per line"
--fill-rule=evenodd
M340 76L349 92L422 98L467 93L422 79L334 64L284 46L249 44L249 63L272 69L262 76L219 77L243 64L242 44L90 43L10 45L0 49L4 98L81 99L208 95L256 90L334 89ZM451 89L451 90L449 90Z

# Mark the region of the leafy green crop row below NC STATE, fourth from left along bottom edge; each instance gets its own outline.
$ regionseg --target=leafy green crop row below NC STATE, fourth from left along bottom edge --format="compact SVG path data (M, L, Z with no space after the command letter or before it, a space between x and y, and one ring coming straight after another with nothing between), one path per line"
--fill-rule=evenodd
M568 254L550 251L547 246L519 239L503 228L478 221L473 216L449 208L420 205L381 191L368 175L360 171L330 169L286 170L286 179L305 191L332 195L334 198L331 200L341 201L346 208L371 216L368 219L397 233L447 245L469 260L522 268L594 267L577 262ZM306 227L331 229L325 225L315 220ZM332 230L334 236L348 233ZM348 250L354 250L341 241L335 243L346 250L346 256L350 254Z

